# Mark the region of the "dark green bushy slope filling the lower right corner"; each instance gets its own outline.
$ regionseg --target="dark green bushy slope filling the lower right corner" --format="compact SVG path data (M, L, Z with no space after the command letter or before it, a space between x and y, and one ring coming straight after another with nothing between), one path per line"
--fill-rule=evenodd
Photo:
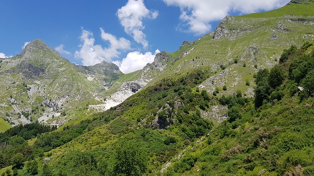
M254 100L236 94L219 99L228 105L228 120L209 133L207 144L190 153L200 175L314 175L311 46L291 46L279 65L260 69ZM176 162L166 175L181 175L178 165L188 170L184 162Z

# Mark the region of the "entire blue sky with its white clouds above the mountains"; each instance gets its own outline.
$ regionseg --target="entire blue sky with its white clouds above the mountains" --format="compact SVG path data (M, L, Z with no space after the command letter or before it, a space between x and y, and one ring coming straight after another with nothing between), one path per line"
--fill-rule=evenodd
M41 39L70 62L141 69L213 31L226 15L279 8L289 0L1 0L0 57Z

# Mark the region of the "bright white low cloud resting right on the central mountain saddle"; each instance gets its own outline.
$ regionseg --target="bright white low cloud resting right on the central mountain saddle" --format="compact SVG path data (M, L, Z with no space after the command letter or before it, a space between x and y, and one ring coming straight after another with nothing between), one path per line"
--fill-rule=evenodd
M142 54L138 51L134 51L130 52L122 61L113 61L112 63L119 66L123 73L131 73L142 69L147 63L154 62L155 56L159 52L158 49L155 51L155 54L152 54L151 52Z

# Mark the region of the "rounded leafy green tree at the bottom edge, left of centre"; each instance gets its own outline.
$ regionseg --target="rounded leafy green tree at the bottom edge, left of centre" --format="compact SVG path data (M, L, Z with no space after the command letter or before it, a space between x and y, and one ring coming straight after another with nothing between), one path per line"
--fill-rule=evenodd
M147 170L147 154L131 142L124 141L116 148L114 174L142 176Z

